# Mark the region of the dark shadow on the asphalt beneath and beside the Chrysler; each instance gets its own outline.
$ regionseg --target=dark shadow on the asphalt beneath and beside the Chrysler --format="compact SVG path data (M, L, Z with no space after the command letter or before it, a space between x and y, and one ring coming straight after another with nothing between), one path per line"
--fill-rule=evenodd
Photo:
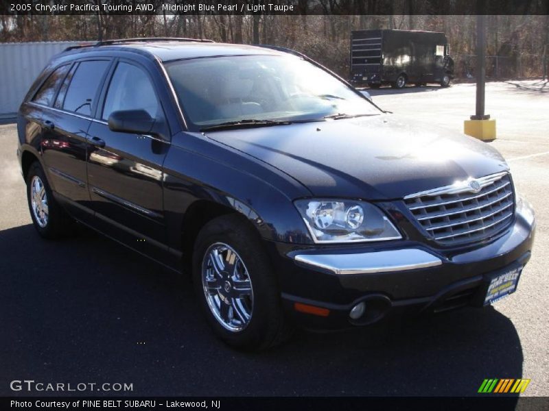
M140 396L475 396L484 378L522 376L519 336L493 308L244 353L213 337L185 275L98 234L46 241L23 225L0 232L0 249L0 395L58 395L10 391L32 377Z

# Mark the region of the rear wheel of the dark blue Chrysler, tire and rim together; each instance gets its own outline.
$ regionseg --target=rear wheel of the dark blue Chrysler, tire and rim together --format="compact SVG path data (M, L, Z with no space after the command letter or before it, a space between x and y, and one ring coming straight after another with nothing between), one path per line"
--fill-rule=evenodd
M74 221L54 199L38 161L27 172L27 203L34 228L43 238L57 239L74 232Z

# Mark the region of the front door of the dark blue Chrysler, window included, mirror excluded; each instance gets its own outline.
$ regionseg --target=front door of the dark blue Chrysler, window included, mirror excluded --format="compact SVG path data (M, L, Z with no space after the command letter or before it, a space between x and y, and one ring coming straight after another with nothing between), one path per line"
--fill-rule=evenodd
M165 122L148 69L118 60L104 91L97 121L89 129L89 195L102 231L153 258L167 251L162 165L170 142L154 136L113 132L108 116L119 110L145 110ZM170 132L166 129L165 136Z

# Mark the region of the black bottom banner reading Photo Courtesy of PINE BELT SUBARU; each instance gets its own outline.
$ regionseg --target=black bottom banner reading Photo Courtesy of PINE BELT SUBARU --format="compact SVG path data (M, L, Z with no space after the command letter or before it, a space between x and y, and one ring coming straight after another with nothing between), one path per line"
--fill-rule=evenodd
M4 397L2 410L548 410L547 397Z

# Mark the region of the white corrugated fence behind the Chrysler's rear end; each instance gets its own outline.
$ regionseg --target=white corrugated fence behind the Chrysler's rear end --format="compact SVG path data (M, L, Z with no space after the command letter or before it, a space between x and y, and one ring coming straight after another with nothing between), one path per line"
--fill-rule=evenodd
M78 42L0 43L0 118L16 115L30 85L51 57Z

